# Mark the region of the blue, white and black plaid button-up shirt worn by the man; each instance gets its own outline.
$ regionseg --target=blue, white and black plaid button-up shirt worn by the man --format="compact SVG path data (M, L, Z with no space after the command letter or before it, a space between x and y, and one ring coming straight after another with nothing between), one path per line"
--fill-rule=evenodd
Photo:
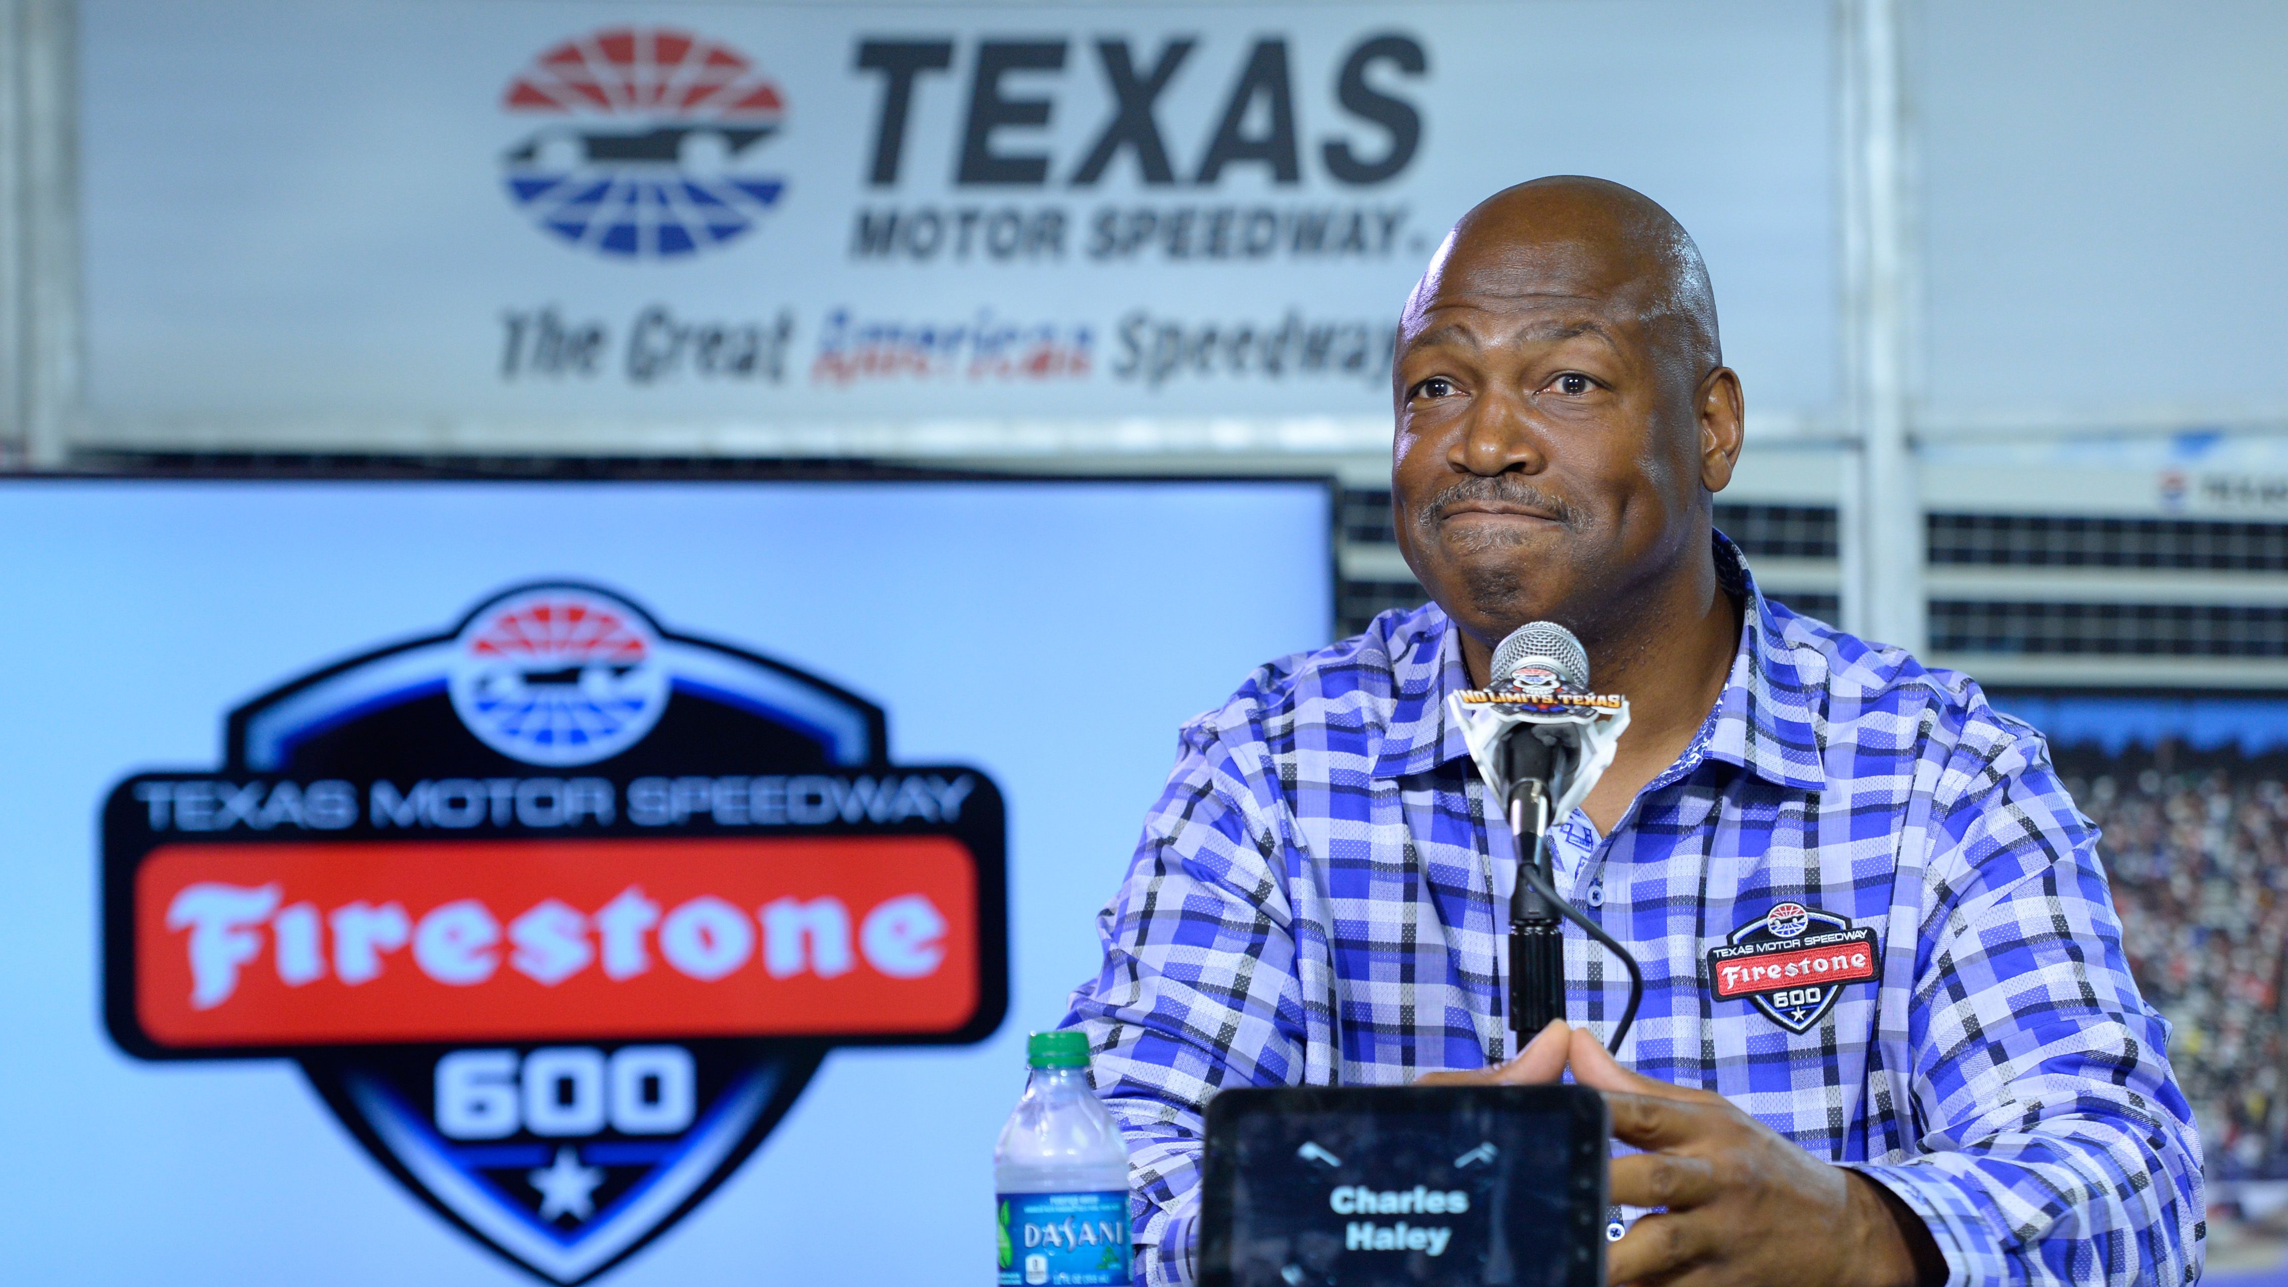
M2192 1109L2041 736L1963 674L1766 601L1727 539L1716 553L1748 601L1723 697L1611 834L1579 812L1554 832L1558 887L1645 969L1620 1061L1890 1186L1949 1282L2192 1282ZM1066 1020L1128 1134L1149 1282L1190 1280L1217 1088L1510 1054L1515 860L1446 713L1460 688L1460 631L1425 606L1274 661L1183 727ZM1716 999L1705 969L1780 903L1883 949L1801 1036ZM1606 1036L1627 976L1574 926L1565 972L1567 1013Z

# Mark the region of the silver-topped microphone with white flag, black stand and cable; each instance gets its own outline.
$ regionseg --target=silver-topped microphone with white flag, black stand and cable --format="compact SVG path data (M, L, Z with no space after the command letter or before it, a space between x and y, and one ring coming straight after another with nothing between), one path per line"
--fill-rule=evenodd
M1556 892L1547 834L1551 818L1588 798L1613 764L1620 734L1629 727L1629 702L1590 690L1588 652L1572 631L1556 622L1528 622L1494 649L1487 688L1455 693L1448 706L1517 841L1508 997L1517 1049L1549 1020L1565 1017L1563 921L1574 921L1629 972L1629 1004L1606 1040L1618 1052L1636 1024L1645 976L1620 942Z

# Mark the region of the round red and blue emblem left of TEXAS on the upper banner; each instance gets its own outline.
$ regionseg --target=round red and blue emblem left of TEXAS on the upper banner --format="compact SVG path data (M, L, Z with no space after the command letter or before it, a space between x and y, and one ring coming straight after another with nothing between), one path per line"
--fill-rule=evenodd
M787 183L755 165L787 105L739 50L609 27L542 53L508 112L545 121L503 158L545 231L615 258L677 258L746 235Z

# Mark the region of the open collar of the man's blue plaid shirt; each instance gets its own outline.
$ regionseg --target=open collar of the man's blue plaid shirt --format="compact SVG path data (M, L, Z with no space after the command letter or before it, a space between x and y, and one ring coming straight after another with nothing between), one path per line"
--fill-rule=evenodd
M1718 583L1739 594L1750 610L1743 613L1732 674L1709 713L1711 727L1693 738L1693 748L1707 759L1734 764L1766 782L1819 791L1828 775L1819 764L1819 716L1810 702L1814 684L1805 681L1798 654L1787 645L1778 617L1755 587L1739 546L1723 533L1714 533L1714 546ZM1448 693L1471 688L1469 670L1462 665L1462 631L1444 613L1437 613L1437 629L1416 635L1405 656L1391 658L1393 709L1375 757L1377 780L1430 773L1469 757L1462 727L1446 711ZM1686 752L1686 761L1661 780L1689 773L1695 752Z

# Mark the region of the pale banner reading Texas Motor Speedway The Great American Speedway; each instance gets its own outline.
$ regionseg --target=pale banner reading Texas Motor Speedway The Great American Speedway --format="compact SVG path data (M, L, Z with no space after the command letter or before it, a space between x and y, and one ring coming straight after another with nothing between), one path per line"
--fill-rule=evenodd
M1409 283L1551 171L1668 203L1750 405L1821 409L1826 21L89 0L80 437L1377 448Z

